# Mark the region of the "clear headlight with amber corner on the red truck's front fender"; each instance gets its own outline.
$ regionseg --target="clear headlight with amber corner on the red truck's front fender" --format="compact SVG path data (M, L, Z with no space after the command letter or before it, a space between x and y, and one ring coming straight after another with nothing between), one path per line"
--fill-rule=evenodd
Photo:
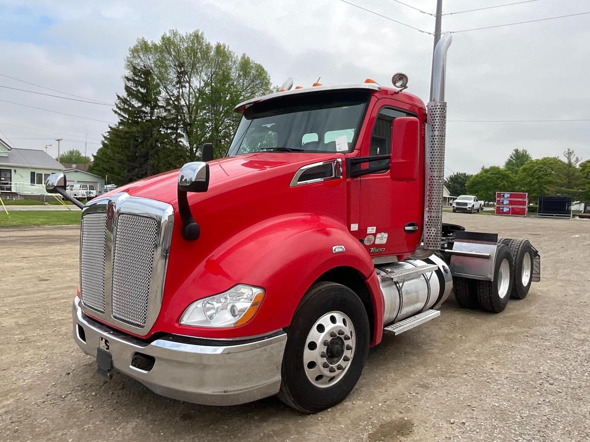
M199 327L236 327L253 318L263 299L264 289L238 284L227 292L193 302L180 322Z

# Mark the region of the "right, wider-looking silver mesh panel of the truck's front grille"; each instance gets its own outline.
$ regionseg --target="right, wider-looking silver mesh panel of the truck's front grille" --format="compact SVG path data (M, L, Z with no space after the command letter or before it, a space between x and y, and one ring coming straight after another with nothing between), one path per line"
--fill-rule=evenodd
M119 215L113 257L113 318L145 326L157 241L155 219Z

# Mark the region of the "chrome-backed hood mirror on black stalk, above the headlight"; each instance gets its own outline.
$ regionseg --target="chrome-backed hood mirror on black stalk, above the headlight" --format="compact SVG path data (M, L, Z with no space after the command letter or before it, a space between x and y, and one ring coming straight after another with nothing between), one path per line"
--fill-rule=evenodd
M186 163L178 173L178 212L182 219L182 238L195 240L201 235L188 204L188 192L207 192L209 189L209 164L202 161Z

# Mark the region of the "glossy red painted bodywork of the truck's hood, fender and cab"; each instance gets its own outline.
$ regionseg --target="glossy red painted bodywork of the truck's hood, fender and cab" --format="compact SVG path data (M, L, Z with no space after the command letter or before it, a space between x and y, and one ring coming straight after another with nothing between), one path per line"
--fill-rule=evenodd
M419 120L418 177L393 181L389 171L355 179L331 180L289 187L293 174L306 164L340 158L346 176L346 157L368 156L371 131L379 109L407 110ZM175 225L168 273L155 332L209 338L260 335L289 326L304 293L324 272L349 268L366 281L373 301L375 336L381 341L383 299L372 256L403 259L417 248L422 235L424 206L425 107L419 98L383 88L375 91L355 146L350 153L254 153L209 162L206 193L188 196L201 236L186 241L176 202L178 170L149 177L114 192L127 192L172 204ZM114 193L113 192L113 193ZM418 231L403 227L416 222ZM350 232L350 224L359 230ZM385 245L365 246L368 227L388 233ZM345 253L332 253L343 245ZM371 247L385 248L369 253ZM221 293L238 283L261 286L266 296L254 318L235 328L205 328L178 323L197 299ZM96 319L96 318L95 318Z

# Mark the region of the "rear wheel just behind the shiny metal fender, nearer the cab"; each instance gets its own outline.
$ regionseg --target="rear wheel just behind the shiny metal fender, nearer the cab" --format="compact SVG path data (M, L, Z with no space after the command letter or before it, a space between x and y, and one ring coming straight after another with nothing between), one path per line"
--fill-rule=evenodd
M494 281L477 281L477 298L486 312L500 313L506 308L512 291L512 255L506 245L496 249Z

